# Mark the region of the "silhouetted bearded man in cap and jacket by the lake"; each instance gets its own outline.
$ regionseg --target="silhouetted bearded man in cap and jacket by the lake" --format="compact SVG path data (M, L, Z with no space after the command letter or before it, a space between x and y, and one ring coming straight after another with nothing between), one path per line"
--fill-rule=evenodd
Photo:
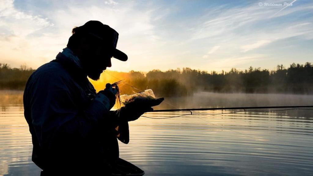
M151 107L110 112L116 90L96 93L87 76L98 80L111 58L127 60L116 49L118 33L99 21L72 30L67 48L39 67L24 91L24 115L32 134L33 162L42 175L107 175L119 162L117 138L129 141L128 122Z

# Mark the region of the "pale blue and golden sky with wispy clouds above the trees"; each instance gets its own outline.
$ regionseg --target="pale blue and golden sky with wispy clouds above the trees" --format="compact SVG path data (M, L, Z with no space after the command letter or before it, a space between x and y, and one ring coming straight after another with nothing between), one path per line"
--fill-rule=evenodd
M128 60L112 59L110 70L275 70L313 61L310 0L0 0L0 63L36 69L89 20L119 33Z

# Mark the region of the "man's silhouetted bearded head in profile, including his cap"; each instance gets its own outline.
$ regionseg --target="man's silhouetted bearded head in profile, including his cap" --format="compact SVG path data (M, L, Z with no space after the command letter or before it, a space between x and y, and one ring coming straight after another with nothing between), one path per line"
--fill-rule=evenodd
M67 47L80 59L83 72L92 80L111 67L111 58L126 61L127 55L116 49L118 33L99 21L88 21L72 29Z

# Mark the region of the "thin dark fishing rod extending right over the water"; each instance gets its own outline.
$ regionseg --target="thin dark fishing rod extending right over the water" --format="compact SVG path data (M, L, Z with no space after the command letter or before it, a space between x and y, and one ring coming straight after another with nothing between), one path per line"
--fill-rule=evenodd
M192 109L160 109L150 112L170 112L170 111L209 111L209 110L232 110L232 109L274 109L274 108L312 108L313 106L255 106L255 107L220 107L220 108L192 108Z

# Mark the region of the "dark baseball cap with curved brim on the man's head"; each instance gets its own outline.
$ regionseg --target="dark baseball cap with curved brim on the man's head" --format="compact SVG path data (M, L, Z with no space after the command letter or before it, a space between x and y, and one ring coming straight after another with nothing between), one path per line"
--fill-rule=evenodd
M113 50L113 57L115 59L126 61L127 55L122 51L116 49L117 40L118 40L118 33L110 26L101 23L100 21L88 21L84 25L77 27L75 30L76 33L85 33L89 34L93 37L96 37L109 46L112 47Z

